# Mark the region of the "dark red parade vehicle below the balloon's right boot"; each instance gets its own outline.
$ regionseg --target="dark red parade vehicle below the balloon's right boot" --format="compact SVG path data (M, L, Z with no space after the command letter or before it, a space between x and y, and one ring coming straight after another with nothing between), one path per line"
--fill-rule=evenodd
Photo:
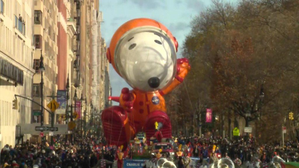
M174 159L174 150L171 143L154 143L152 145L152 158L155 158L156 153L161 151L160 154L163 158L168 158L170 160Z

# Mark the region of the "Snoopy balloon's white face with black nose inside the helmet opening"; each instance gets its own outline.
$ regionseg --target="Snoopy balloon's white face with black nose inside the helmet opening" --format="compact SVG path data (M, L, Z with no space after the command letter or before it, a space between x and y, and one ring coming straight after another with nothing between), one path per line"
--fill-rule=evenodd
M176 50L166 33L156 28L136 28L120 39L115 65L132 87L156 91L167 87L176 74Z

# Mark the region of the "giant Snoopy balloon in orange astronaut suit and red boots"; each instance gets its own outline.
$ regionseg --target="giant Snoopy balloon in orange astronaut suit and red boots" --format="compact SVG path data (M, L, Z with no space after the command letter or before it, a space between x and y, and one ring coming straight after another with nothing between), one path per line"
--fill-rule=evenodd
M187 59L176 59L176 38L152 19L124 23L112 37L106 56L115 71L133 88L123 88L120 97L110 97L120 106L102 112L104 135L110 144L126 145L137 132L147 140L157 132L171 138L171 124L163 95L183 82L190 70Z

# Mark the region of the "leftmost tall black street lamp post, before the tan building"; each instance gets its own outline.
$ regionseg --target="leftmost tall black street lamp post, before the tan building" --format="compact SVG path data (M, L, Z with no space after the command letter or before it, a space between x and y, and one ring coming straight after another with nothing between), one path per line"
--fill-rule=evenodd
M40 126L44 126L44 97L43 97L43 87L44 87L44 79L43 79L43 72L45 71L45 66L44 66L44 57L42 56L42 50L40 51L40 62L39 62L39 71L41 72L41 80L40 80L40 101L41 101L41 112L40 112ZM43 131L41 131L43 132ZM42 139L42 148L43 148L43 143L44 143L44 137Z

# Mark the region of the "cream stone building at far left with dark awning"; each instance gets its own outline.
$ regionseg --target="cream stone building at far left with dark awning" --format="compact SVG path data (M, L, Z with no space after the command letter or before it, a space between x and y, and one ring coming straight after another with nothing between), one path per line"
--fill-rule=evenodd
M30 135L20 135L20 123L31 122L33 74L33 18L31 0L0 0L0 134L1 144L14 145Z

